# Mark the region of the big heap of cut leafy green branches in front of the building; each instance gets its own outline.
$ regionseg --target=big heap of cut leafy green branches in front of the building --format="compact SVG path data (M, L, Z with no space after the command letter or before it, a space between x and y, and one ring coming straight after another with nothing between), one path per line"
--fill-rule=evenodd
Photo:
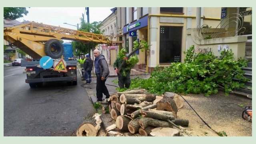
M232 51L222 51L221 58L212 53L196 54L194 46L186 52L184 63L171 63L169 67L156 67L150 78L132 80L130 88L145 88L150 93L163 94L176 92L184 94L216 94L219 87L224 87L228 95L234 89L244 86L248 79L244 78L241 66L246 66L245 60L234 60ZM232 78L238 80L234 81Z

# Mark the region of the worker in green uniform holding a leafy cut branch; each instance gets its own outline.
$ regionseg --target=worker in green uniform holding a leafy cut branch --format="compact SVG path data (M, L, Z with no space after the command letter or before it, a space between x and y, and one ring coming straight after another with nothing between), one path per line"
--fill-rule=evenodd
M130 73L131 73L131 68L127 66L126 62L124 66L122 66L121 71L118 70L118 67L122 64L122 62L126 61L127 58L116 58L114 62L114 69L116 70L117 76L118 76L118 85L119 88L129 88L131 84L131 78L130 78Z

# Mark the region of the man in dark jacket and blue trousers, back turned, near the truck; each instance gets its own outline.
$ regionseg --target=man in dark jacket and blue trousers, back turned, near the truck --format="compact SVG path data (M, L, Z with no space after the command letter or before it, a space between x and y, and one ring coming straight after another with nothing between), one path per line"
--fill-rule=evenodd
M84 61L84 78L86 79L86 84L90 84L92 82L92 66L92 59L89 54L86 54L86 60Z

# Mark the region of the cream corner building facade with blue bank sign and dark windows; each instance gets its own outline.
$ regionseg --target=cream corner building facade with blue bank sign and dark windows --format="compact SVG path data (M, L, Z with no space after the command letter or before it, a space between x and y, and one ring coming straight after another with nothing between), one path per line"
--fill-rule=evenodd
M186 30L197 28L196 13L197 8L117 8L117 32L119 39L124 40L122 47L132 52L134 40L147 41L150 46L148 58L145 51L137 52L139 62L135 69L143 71L148 65L148 72L152 72L156 66L183 62L183 52L190 47L186 44ZM201 8L200 26L218 27L220 13L221 8Z

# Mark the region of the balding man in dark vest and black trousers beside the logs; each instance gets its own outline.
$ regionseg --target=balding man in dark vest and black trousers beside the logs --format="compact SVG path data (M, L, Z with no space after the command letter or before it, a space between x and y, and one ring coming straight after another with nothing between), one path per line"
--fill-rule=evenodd
M106 98L109 98L110 96L110 94L108 93L108 89L105 85L106 79L109 76L109 69L108 69L108 64L105 57L100 54L100 50L98 49L94 50L93 54L95 56L94 67L95 67L95 74L97 76L97 83L96 83L97 101L102 101L103 94L106 95Z

